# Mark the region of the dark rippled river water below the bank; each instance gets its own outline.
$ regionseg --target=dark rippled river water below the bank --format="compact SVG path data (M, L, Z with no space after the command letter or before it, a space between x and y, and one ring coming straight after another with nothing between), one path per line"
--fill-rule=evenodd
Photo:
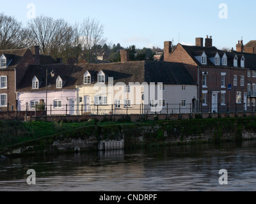
M219 182L222 169L228 184ZM255 141L0 160L0 191L255 190Z

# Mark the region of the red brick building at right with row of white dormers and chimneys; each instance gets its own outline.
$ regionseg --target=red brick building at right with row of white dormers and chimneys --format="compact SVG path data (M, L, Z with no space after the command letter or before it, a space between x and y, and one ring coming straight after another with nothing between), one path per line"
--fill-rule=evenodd
M218 50L212 46L211 36L205 38L205 45L203 43L203 38L196 38L195 46L179 43L172 50L172 42L164 42L164 61L183 62L197 82L198 111L251 110L250 106L255 106L256 98L256 81L252 80L256 80L256 55ZM237 47L241 48L241 44Z

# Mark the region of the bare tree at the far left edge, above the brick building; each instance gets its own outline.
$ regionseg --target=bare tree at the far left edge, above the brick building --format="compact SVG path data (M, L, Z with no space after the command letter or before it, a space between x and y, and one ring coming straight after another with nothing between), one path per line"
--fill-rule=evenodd
M0 13L0 49L8 50L15 48L24 48L24 31L22 23L14 17L9 17Z

